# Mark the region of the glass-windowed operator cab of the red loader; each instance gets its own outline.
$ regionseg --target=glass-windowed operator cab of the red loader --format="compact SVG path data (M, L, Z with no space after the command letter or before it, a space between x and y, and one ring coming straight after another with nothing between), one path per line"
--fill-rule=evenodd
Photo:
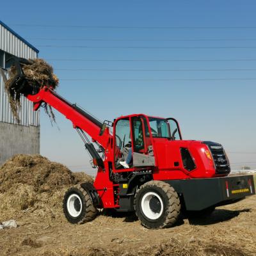
M115 169L155 166L154 140L181 140L179 125L173 118L146 115L124 116L115 120Z

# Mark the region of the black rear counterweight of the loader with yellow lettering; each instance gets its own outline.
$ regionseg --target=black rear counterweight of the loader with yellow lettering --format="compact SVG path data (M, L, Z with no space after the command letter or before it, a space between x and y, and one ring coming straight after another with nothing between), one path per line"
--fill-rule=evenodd
M253 175L164 181L177 191L187 211L232 204L255 195Z

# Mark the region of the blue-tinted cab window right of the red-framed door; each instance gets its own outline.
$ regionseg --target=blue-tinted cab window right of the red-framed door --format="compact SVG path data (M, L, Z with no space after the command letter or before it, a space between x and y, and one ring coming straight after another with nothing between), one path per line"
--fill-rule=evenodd
M149 117L148 120L154 138L170 138L170 129L166 119Z

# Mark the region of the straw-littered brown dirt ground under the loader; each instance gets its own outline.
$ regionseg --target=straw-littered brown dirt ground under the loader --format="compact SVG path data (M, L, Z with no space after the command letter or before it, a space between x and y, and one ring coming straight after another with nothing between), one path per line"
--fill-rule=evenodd
M216 208L207 218L184 217L175 227L162 230L144 228L131 214L114 218L100 213L90 223L71 225L59 204L60 214L29 207L10 214L17 228L0 230L0 255L256 255L255 202L256 196L249 196ZM0 221L8 218L6 211Z

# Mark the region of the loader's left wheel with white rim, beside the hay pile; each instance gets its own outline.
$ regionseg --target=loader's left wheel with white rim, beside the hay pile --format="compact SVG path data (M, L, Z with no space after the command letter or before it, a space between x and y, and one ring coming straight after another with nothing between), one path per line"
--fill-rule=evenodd
M80 184L68 189L63 198L63 212L72 224L82 224L95 219L97 209L90 195Z

